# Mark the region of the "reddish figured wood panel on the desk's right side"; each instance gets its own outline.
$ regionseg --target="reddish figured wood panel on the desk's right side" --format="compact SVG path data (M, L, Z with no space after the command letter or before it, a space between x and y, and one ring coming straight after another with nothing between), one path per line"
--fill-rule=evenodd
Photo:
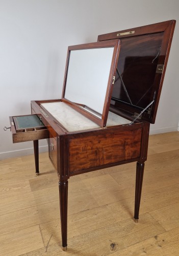
M142 129L69 140L70 173L140 157Z

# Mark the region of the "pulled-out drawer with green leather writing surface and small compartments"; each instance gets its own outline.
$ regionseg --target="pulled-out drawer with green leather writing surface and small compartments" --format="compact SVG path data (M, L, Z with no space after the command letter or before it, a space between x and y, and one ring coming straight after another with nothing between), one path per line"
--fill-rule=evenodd
M48 138L47 127L37 115L10 116L13 143Z

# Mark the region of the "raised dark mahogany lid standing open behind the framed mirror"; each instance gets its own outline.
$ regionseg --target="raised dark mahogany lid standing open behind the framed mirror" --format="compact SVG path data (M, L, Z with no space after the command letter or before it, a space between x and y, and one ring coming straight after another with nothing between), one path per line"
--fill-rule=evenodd
M110 110L155 123L175 20L98 36L120 39Z

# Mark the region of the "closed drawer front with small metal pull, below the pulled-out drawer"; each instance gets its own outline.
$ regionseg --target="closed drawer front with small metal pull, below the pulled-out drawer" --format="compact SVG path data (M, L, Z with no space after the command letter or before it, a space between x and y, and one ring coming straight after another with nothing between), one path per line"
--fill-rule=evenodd
M49 133L49 159L52 161L56 170L58 169L57 165L57 139L52 137L52 134Z

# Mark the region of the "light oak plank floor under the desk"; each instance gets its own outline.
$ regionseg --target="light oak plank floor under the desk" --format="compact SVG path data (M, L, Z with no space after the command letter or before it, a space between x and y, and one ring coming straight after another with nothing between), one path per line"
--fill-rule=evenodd
M179 132L152 135L139 223L135 163L69 179L68 249L61 249L58 177L40 154L0 162L1 255L179 255Z

